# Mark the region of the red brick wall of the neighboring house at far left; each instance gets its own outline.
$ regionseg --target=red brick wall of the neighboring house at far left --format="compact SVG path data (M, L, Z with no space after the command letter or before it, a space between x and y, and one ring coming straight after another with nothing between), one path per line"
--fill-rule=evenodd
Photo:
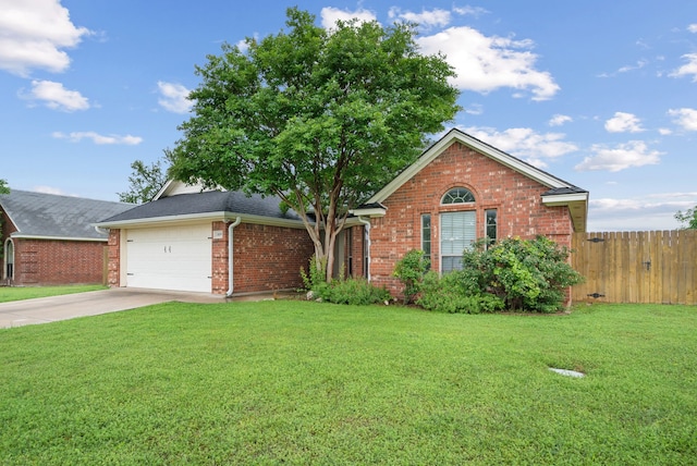
M103 242L14 238L16 286L101 283Z

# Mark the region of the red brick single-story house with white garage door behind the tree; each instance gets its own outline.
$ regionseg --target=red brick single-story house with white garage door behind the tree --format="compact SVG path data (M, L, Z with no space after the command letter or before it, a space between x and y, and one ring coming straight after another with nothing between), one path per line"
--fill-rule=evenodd
M338 237L334 272L394 294L394 265L411 249L448 272L477 238L546 235L571 246L586 229L587 191L458 130L371 194ZM151 203L97 223L110 231L109 284L220 295L298 287L314 247L279 205L169 182Z

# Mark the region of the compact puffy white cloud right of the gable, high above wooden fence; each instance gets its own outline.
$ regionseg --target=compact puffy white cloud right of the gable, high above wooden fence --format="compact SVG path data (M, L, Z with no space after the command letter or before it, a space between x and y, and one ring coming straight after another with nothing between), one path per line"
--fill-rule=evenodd
M577 171L607 170L619 172L632 167L655 165L660 162L660 156L664 152L649 150L643 140L629 140L615 147L594 144L590 148L594 156L586 157L577 164Z

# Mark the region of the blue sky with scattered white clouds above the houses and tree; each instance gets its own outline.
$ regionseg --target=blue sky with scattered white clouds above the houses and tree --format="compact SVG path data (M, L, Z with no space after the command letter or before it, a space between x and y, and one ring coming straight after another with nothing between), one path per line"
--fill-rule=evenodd
M196 64L295 3L0 0L0 179L117 200L188 118ZM588 230L669 230L697 205L697 2L305 1L331 25L420 24L457 72L457 126L590 192Z

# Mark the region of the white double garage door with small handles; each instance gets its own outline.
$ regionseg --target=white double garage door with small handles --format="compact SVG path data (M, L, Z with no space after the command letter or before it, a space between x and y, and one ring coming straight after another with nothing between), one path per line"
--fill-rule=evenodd
M126 286L210 293L211 225L129 230Z

